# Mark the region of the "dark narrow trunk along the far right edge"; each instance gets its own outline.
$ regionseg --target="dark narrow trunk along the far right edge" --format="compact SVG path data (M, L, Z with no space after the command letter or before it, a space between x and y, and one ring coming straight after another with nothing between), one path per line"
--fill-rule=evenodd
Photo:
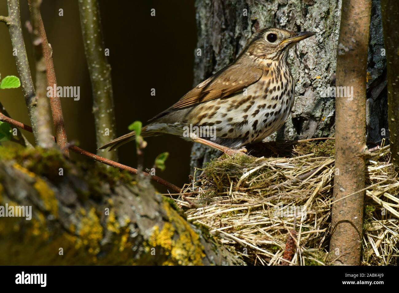
M382 0L382 21L387 56L388 123L392 163L399 169L399 2Z

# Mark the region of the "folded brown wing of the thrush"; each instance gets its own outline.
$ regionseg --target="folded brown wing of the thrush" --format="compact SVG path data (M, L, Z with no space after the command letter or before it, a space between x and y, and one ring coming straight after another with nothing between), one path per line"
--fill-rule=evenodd
M149 121L174 110L180 110L217 98L227 98L231 94L257 82L262 74L263 70L259 68L242 64L229 65L197 85L178 100L176 104Z

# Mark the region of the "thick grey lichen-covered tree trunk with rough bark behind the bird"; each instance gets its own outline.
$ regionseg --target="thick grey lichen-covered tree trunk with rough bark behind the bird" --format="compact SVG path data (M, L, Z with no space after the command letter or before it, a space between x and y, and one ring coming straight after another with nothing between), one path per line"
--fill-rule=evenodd
M243 16L244 9L247 16ZM267 140L334 136L335 100L321 92L335 86L341 0L197 0L196 10L201 56L195 54L194 85L231 63L259 28L316 32L290 50L288 63L296 82L294 108L284 126ZM373 0L370 35L367 140L379 142L388 136L381 134L381 129L388 127L379 0ZM192 167L201 167L217 155L198 144L192 153Z

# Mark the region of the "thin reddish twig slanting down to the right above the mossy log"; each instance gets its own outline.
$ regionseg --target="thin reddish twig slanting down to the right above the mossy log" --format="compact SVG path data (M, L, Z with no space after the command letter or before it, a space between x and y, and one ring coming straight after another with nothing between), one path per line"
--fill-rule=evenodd
M32 132L32 127L30 127L28 125L25 125L25 124L23 124L21 122L18 122L16 120L12 119L12 118L9 118L9 117L5 116L2 113L0 113L0 121L4 121L4 122L7 122L7 123L10 123L10 124L12 124L12 125L14 125L16 127L19 127L19 128L21 128L23 130ZM55 140L55 138L53 136L52 136L52 138ZM99 155L95 155L94 153L90 153L89 151L81 149L80 147L68 146L68 144L66 144L65 146L67 146L70 149L72 149L75 153L80 153L81 155L85 155L86 157L89 157L91 159L94 159L96 161L104 163L106 165L109 165L109 166L112 166L112 167L116 167L116 168L119 168L119 169L122 169L122 170L126 170L126 171L129 171L130 173L133 173L133 174L137 174L138 173L137 169L134 169L134 168L126 166L126 165L122 165L120 163L117 163L115 161L111 161L110 159L106 159L104 157L100 157ZM176 193L181 193L181 189L179 187L177 187L176 185L174 185L174 184L162 179L161 177L158 177L156 175L150 175L150 174L148 174L146 172L141 172L141 173L144 176L149 176L152 181L158 182L159 184L164 185L164 186L166 186L169 189L172 189Z

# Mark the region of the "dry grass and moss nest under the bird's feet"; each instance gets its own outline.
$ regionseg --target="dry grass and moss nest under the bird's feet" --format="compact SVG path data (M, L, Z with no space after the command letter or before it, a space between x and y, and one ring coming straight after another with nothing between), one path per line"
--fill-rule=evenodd
M250 265L332 264L334 140L277 142L250 152L261 153L223 155L198 169L199 179L185 186L196 204L185 209L187 220L207 227ZM367 161L366 186L362 264L397 265L399 181L389 146Z

